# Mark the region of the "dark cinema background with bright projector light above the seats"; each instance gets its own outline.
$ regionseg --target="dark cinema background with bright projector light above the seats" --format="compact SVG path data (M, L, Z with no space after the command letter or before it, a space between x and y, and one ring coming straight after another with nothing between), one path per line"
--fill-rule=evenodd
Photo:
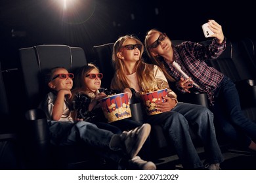
M68 1L68 0L67 0ZM115 42L120 35L158 28L173 40L203 41L201 25L209 19L223 27L227 39L256 39L253 0L1 0L0 61L3 69L17 67L18 48L67 44L85 50L93 61L94 45ZM75 6L78 5L78 6Z

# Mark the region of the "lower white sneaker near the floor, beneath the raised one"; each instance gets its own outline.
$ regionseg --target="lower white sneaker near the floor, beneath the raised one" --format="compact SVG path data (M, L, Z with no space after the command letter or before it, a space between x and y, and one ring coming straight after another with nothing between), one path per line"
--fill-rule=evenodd
M139 156L129 160L129 169L135 170L156 170L156 165L152 161L145 161Z

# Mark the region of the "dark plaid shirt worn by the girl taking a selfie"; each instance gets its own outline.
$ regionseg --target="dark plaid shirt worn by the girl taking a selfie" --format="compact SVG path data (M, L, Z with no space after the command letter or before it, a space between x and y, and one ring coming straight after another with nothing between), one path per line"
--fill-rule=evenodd
M181 70L192 78L200 88L194 86L196 90L207 93L211 105L214 101L214 90L219 86L223 79L223 73L220 73L213 67L209 67L205 61L218 58L226 48L226 38L223 44L218 44L213 39L209 46L203 46L197 42L185 41L173 48L175 61L181 66ZM165 69L175 80L180 80L181 75L171 63L164 62ZM177 87L182 93L182 88Z

